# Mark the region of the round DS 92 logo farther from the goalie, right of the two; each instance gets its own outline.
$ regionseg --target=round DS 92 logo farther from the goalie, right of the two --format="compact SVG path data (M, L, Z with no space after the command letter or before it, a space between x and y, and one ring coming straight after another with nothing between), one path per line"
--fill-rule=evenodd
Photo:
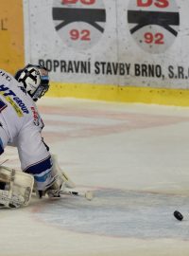
M128 22L138 46L163 53L178 36L179 8L175 0L130 0Z

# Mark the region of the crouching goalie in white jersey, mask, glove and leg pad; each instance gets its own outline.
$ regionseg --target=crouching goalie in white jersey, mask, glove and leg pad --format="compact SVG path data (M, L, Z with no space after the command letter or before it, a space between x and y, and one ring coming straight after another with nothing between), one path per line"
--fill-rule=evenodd
M7 145L17 147L21 169L0 165L0 207L29 203L34 189L40 197L60 197L74 183L64 174L41 135L43 120L35 101L49 88L45 67L27 64L15 78L0 69L0 155Z

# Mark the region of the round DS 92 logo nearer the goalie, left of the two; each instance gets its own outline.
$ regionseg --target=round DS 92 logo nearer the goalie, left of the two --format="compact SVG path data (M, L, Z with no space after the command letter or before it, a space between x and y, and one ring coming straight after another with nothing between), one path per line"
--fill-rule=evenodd
M103 0L54 0L53 20L64 44L86 50L103 34L106 10Z

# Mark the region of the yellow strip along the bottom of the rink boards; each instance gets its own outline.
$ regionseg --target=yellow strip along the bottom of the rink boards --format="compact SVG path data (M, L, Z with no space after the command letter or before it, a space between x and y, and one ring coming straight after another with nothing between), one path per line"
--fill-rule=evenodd
M189 106L189 90L51 82L48 97Z

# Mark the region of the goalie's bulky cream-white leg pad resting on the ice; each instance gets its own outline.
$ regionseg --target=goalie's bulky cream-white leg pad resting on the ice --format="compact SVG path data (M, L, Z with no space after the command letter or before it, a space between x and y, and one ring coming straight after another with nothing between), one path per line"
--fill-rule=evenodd
M29 203L34 178L14 169L0 166L0 183L5 183L5 190L0 190L0 205L6 208L19 208Z

